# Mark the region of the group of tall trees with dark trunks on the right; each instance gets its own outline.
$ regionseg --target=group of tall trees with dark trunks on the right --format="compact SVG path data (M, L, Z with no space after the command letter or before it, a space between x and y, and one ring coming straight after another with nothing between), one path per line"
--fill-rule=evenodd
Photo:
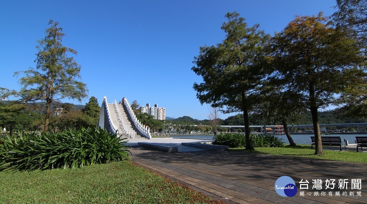
M254 150L250 114L264 125L279 121L287 130L308 110L315 154L323 154L320 109L334 105L366 115L358 111L366 107L367 94L366 0L338 0L336 8L333 16L296 16L273 36L228 12L222 43L199 48L192 70L203 82L194 83L196 96L224 113L242 113L247 150Z

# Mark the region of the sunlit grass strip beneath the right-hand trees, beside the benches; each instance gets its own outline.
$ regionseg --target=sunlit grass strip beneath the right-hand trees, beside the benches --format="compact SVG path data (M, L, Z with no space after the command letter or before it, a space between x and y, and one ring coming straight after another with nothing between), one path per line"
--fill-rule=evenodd
M255 147L255 151L244 150L244 148L229 148L229 150L239 152L249 152L249 153L312 158L312 159L367 163L366 153L352 152L352 151L339 152L333 150L323 150L324 155L315 155L315 149L310 148L311 145L297 145L297 146L285 146L285 147Z

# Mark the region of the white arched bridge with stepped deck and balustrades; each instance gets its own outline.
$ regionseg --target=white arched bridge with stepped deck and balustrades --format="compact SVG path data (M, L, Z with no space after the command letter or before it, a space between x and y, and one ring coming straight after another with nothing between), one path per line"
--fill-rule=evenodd
M149 127L139 122L126 98L119 104L116 100L114 103L108 103L106 96L103 97L98 126L112 133L117 132L120 137L152 138Z

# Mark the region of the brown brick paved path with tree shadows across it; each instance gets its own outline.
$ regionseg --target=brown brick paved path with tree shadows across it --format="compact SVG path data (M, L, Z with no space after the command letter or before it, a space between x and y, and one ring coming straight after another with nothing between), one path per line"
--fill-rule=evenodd
M132 161L183 185L227 203L367 203L367 164L344 161L304 159L241 152L195 151L166 153L145 147L130 149ZM298 192L294 197L279 196L275 181L290 176ZM299 189L307 179L309 190ZM313 190L312 179L322 179L323 189ZM325 189L325 180L335 179L333 190ZM338 189L338 179L348 179L348 190ZM351 179L362 179L361 189L350 189ZM300 196L300 191L305 195ZM335 196L335 192L340 196ZM347 195L342 195L347 191ZM314 196L315 192L319 196ZM321 195L325 192L325 195ZM329 196L332 192L332 196ZM354 196L349 195L354 192ZM361 196L356 196L361 192ZM308 195L307 193L311 194Z

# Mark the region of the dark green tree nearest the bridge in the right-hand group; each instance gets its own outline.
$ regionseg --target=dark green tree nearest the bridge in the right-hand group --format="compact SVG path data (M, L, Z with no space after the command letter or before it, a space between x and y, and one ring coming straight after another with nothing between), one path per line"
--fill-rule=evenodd
M200 47L192 70L203 77L203 83L193 85L200 103L226 107L224 113L242 112L245 125L246 149L254 150L251 141L248 114L259 103L259 90L264 77L261 61L269 35L259 30L259 25L247 27L237 12L225 15L222 30L226 33L223 43Z

